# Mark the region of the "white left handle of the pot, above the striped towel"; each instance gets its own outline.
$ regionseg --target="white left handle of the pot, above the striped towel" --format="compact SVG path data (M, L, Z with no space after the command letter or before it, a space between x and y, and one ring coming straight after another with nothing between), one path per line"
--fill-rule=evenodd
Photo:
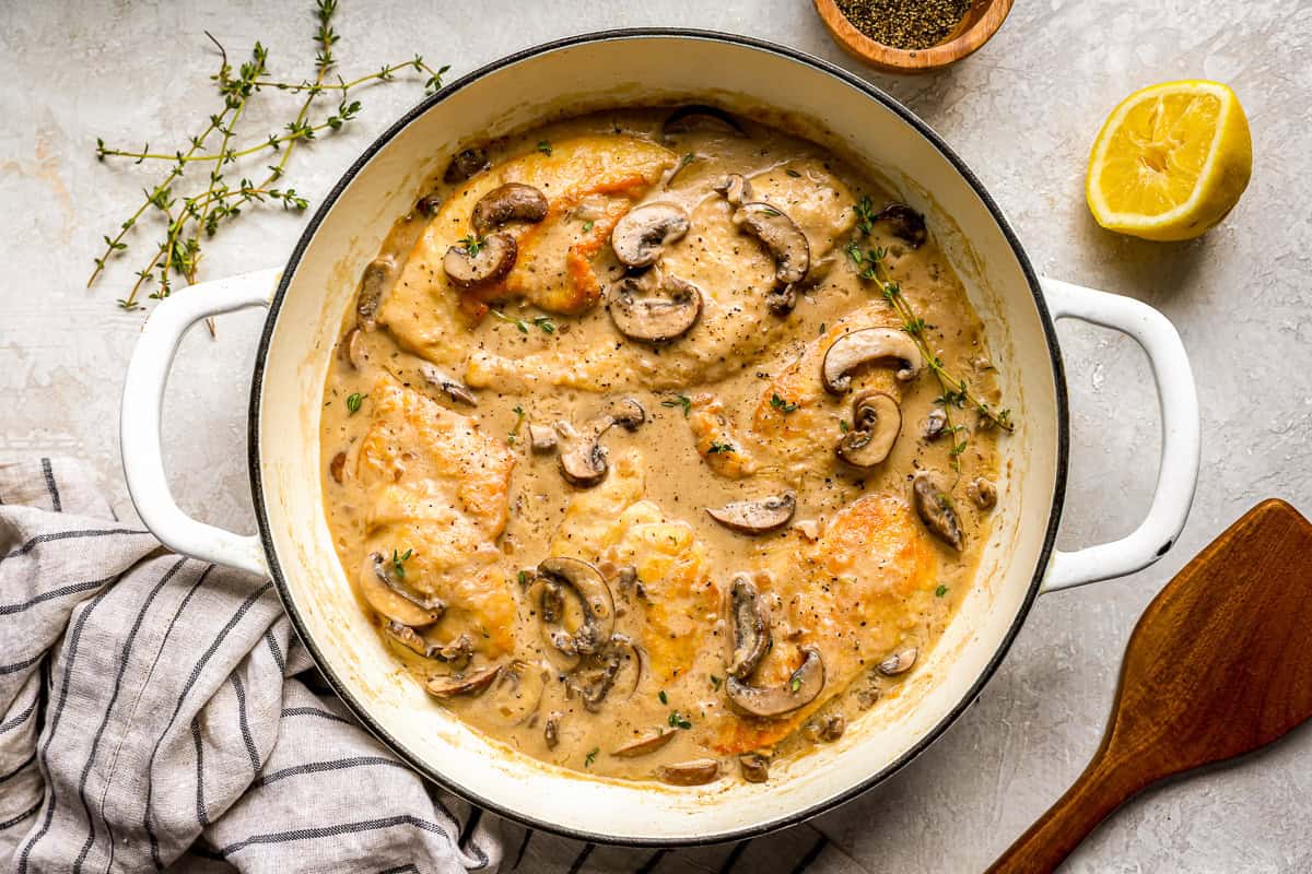
M197 522L173 501L160 448L160 410L169 368L186 329L209 316L268 307L281 275L278 269L247 273L190 286L161 300L142 326L127 364L119 422L123 476L146 527L174 552L261 577L269 575L269 566L258 537ZM133 451L127 452L127 447Z

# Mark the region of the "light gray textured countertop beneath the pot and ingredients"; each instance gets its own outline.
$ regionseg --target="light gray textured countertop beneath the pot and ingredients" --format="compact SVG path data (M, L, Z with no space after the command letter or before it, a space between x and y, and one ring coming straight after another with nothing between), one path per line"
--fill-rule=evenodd
M235 55L258 38L273 69L299 77L310 3L277 5L0 7L0 388L8 398L0 457L85 457L123 514L131 507L117 410L140 316L113 301L134 267L122 259L94 290L84 286L100 236L117 227L147 177L142 168L97 164L94 140L169 148L182 140L213 102L215 58L202 30ZM1094 751L1126 639L1172 573L1261 498L1279 495L1312 511L1312 7L1019 0L975 58L920 79L874 75L849 60L802 0L391 0L367 10L345 0L337 29L346 72L421 51L450 63L454 76L555 37L657 24L787 43L871 79L960 152L1040 271L1156 305L1190 349L1203 402L1203 474L1174 552L1132 578L1042 599L979 704L932 751L815 823L830 839L825 858L834 870L981 869ZM1098 126L1130 90L1182 77L1220 79L1239 92L1256 153L1248 194L1199 241L1155 245L1102 232L1082 198ZM419 86L407 84L362 94L359 122L300 153L291 183L316 199L417 97ZM300 224L279 210L252 214L211 244L205 275L281 263ZM148 245L138 237L136 253ZM258 320L220 318L216 342L203 332L189 335L164 428L184 507L244 531L253 527L244 435ZM1131 341L1076 324L1059 334L1073 405L1059 542L1076 546L1126 533L1147 508L1157 414ZM1240 764L1148 791L1098 829L1067 870L1312 870L1309 798L1312 731L1302 730ZM590 865L606 867L606 858L598 852Z

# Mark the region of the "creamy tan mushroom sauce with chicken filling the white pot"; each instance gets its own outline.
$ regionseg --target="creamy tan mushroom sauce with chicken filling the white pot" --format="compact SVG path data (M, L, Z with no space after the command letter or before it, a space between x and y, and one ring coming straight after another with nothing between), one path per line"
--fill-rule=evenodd
M837 338L901 326L846 257L850 241L888 250L930 347L976 394L1000 398L933 227L918 248L896 221L863 236L858 199L878 211L892 198L824 149L741 118L741 132L697 113L669 119L651 109L552 123L462 155L433 181L342 325L324 389L323 490L348 577L436 706L588 774L779 780L782 761L878 719L879 701L924 662L972 584L989 525L977 504L991 503L998 463L998 430L968 408L953 410L964 426L955 438L925 436L941 402L929 370L899 381L899 362L866 362L849 390L825 390ZM770 309L786 265L735 224L735 193L715 190L728 174L807 237L791 312ZM453 270L487 267L468 250L471 214L506 182L541 191L546 214L493 203L512 219L488 224L484 203L484 257L496 233L517 257L508 273L492 265L500 278L458 288L443 258L455 246ZM691 283L702 300L693 328L665 342L622 335L607 312L626 274L611 232L653 202L676 204L689 229L636 300L659 294L653 276ZM617 245L660 249L661 231ZM689 305L686 294L670 301ZM854 468L836 444L871 389L887 396L880 422L890 409L901 422L887 460ZM632 430L613 425L589 453L588 428L607 411ZM604 465L600 482L567 482L569 452L575 466ZM947 491L960 552L917 516L920 470ZM707 512L770 497L762 524L787 519L770 532ZM731 685L773 715L744 713Z

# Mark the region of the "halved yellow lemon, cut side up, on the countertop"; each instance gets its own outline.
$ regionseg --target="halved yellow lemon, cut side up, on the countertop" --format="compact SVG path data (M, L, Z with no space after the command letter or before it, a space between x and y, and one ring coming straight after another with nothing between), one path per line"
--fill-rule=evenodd
M1103 228L1191 240L1225 218L1253 174L1253 139L1228 85L1149 85L1107 117L1089 156L1085 198Z

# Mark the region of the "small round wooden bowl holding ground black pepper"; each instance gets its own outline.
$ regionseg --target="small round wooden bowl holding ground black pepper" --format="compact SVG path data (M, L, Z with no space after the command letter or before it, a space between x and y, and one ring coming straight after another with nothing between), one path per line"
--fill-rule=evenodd
M871 67L892 73L924 73L956 63L988 42L1012 10L1012 0L972 0L970 10L943 42L907 50L875 42L857 30L834 0L815 0L815 4L834 42Z

